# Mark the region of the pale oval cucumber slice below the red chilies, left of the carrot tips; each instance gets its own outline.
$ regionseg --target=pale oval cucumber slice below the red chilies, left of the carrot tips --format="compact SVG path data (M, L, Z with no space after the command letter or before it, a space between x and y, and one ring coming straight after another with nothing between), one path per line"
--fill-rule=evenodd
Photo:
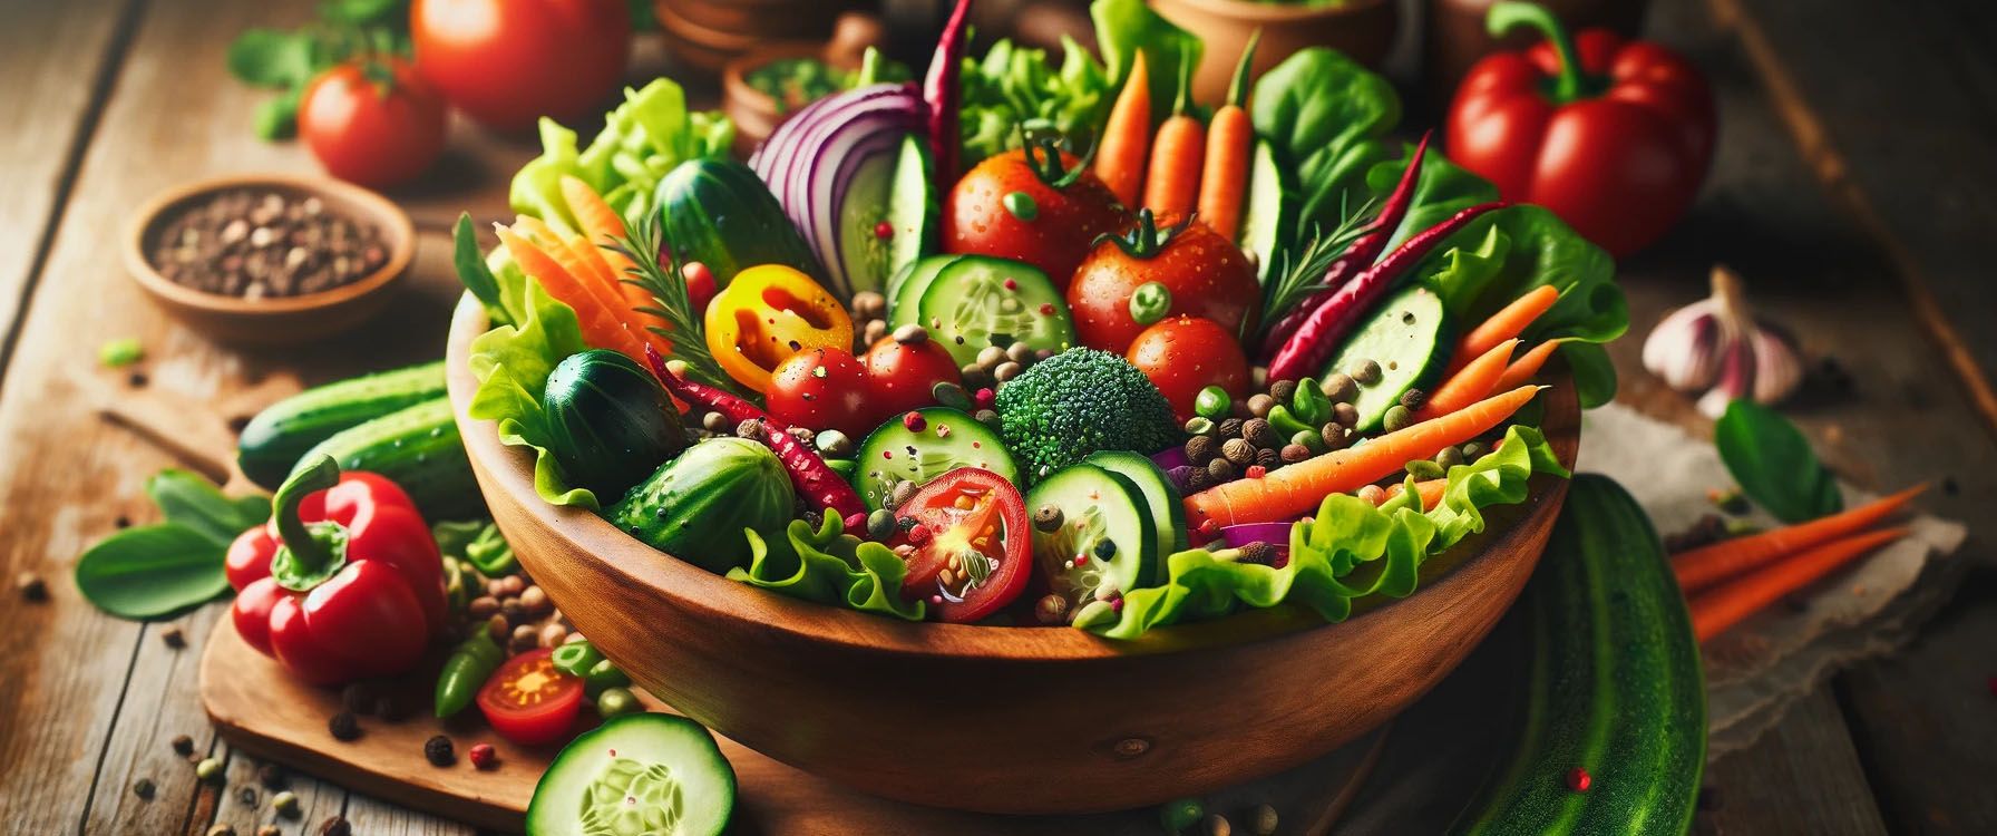
M1450 363L1456 329L1450 313L1432 289L1414 285L1386 297L1372 315L1346 337L1320 377L1352 373L1352 367L1380 363L1380 383L1362 385L1352 403L1360 413L1358 431L1380 429L1386 411L1400 403L1408 389L1430 387Z

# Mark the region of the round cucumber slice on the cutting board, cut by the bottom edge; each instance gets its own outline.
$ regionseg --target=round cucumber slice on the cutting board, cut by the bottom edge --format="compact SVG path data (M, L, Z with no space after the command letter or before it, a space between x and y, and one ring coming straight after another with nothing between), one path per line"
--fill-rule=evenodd
M527 804L527 836L711 836L733 812L735 768L707 728L625 714L555 754Z

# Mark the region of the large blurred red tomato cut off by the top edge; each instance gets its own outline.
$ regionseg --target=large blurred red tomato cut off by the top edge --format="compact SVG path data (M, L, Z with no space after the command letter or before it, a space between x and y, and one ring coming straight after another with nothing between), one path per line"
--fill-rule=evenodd
M631 58L625 0L415 0L415 66L457 110L497 130L587 116Z

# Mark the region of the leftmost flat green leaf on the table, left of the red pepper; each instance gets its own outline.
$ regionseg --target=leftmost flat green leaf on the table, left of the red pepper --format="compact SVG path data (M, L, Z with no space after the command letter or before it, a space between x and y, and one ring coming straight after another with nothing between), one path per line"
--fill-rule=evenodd
M230 591L226 549L176 523L124 529L76 561L76 589L120 619L166 619Z

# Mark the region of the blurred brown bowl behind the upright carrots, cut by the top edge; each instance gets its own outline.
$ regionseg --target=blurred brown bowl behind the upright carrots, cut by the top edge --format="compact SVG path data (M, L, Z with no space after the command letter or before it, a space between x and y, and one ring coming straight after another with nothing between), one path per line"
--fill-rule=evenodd
M1400 12L1394 0L1342 0L1324 6L1266 4L1244 0L1152 0L1160 16L1206 42L1200 68L1192 76L1192 94L1204 106L1228 98L1234 64L1256 28L1252 78L1282 64L1306 46L1330 46L1352 60L1380 68L1394 48Z

